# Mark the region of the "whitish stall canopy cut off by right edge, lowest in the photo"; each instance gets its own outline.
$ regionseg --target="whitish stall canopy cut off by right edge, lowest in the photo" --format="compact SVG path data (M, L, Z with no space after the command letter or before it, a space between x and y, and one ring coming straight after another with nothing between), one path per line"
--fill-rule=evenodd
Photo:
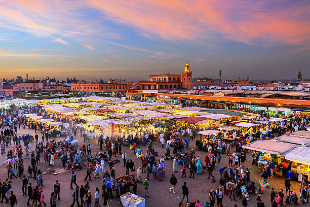
M310 165L310 147L297 147L287 153L285 159Z

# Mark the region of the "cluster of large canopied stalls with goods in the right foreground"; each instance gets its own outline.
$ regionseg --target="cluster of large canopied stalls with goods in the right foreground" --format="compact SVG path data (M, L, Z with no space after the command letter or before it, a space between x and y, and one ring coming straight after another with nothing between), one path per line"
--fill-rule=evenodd
M262 153L258 163L275 163L274 176L310 181L310 131L295 131L273 140L255 141L242 146Z

